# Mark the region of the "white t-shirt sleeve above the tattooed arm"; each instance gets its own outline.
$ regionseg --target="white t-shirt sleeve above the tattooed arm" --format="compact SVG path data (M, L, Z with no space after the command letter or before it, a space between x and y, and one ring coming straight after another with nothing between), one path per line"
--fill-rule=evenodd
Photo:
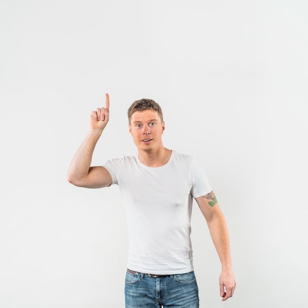
M195 159L191 162L190 175L192 181L190 193L194 198L204 196L212 191L207 175L202 166Z

